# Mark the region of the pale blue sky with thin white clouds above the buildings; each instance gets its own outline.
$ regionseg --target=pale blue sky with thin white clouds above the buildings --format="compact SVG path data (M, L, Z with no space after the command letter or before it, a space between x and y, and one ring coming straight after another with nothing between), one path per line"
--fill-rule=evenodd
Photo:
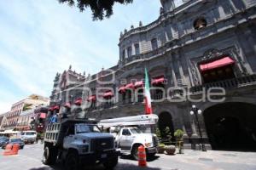
M115 4L110 19L93 21L57 0L0 1L0 114L30 94L49 97L56 72L94 74L118 63L119 35L159 16L160 0Z

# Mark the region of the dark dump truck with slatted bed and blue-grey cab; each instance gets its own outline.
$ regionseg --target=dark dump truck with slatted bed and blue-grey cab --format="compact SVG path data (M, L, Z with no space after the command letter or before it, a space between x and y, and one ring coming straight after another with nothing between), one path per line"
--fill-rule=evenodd
M100 163L113 168L118 163L118 154L113 135L102 133L95 122L67 120L49 124L46 128L44 164L59 160L67 170Z

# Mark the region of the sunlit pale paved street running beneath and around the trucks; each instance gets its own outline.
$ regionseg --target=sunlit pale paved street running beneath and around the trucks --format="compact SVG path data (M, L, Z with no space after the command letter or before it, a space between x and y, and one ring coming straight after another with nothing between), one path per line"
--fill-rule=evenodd
M1 170L60 170L61 165L55 167L44 166L41 162L43 144L27 144L24 150L20 150L18 156L3 156L0 151ZM102 166L89 167L89 169L104 169ZM129 156L120 156L117 170L144 169L137 167L137 161L132 161ZM183 155L166 156L158 155L153 161L148 161L148 168L152 170L255 170L256 153L251 152L207 152L185 150Z

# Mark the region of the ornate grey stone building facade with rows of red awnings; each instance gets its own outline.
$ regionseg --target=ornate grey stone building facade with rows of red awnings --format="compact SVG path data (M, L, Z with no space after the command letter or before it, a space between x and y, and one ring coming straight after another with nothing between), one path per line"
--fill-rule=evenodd
M98 119L143 114L147 68L160 128L183 129L190 144L201 142L200 125L202 142L214 150L256 150L256 2L160 2L157 20L120 33L118 65L92 76L57 74L52 105L82 99L85 116ZM64 86L67 75L73 83ZM210 88L224 90L224 100L202 99ZM191 105L202 111L199 123Z

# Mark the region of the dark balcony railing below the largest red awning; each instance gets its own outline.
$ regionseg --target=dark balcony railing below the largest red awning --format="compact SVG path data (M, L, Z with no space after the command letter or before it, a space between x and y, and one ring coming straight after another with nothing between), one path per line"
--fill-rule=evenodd
M241 86L251 84L252 82L256 83L256 75L249 75L246 77L236 77L229 80L219 81L219 82L211 82L202 84L200 86L195 86L190 88L190 92L192 94L194 93L200 93L203 88L239 88Z

